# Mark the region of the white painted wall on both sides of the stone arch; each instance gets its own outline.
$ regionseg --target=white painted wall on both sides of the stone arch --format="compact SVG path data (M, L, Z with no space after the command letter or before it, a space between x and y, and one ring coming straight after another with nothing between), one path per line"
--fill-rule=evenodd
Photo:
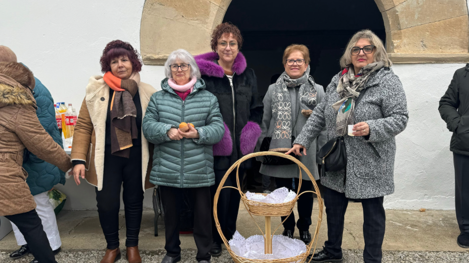
M55 101L71 102L78 110L89 77L101 74L99 57L106 43L121 39L140 48L144 1L0 0L0 45L16 53L18 61L47 86ZM440 118L438 101L454 71L462 66L393 67L407 93L410 119L397 137L396 193L386 197L386 208L454 209L451 133ZM163 78L161 66L143 66L142 81L159 88ZM65 209L96 209L94 187L86 183L78 187L69 179L57 189L68 195ZM145 194L144 206L151 208L151 191Z

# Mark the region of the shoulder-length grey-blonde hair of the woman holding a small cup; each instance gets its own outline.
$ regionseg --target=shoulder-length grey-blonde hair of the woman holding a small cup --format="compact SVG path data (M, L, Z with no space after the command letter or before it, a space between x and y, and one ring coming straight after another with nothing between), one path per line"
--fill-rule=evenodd
M344 54L340 58L340 67L342 67L342 69L352 65L352 54L350 53L350 50L355 46L358 40L362 38L368 39L370 43L375 46L375 53L373 54L374 62L383 61L385 67L393 65L393 62L391 62L388 57L388 53L386 53L383 41L381 41L381 39L370 29L363 29L356 32L352 38L350 38L350 41L344 50Z

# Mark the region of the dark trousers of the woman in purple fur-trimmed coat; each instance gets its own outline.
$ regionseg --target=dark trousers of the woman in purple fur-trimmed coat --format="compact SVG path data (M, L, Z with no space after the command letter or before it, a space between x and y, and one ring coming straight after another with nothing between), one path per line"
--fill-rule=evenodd
M244 175L244 169L239 170L239 186L242 188L242 179ZM210 187L210 192L212 195L212 235L215 242L218 244L222 244L222 238L218 233L218 230L215 226L215 219L214 219L214 198L215 193L217 192L217 188L220 185L223 177L227 173L227 170L215 170L215 185ZM232 186L237 187L236 185L236 169L228 176L227 181L225 182L224 186ZM235 189L223 189L220 191L220 196L218 198L218 206L217 206L217 216L220 222L220 228L222 229L223 235L227 240L231 240L233 238L234 232L236 232L236 219L238 217L239 211L239 201L241 200L241 196L239 192Z

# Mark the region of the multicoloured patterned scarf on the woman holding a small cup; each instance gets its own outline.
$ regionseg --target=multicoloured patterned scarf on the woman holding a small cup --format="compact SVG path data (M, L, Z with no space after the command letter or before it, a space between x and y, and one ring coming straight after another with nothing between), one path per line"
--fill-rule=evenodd
M360 92L365 89L365 84L371 73L383 67L384 63L379 61L364 66L357 76L355 76L353 66L349 66L342 72L337 85L340 100L332 104L332 107L337 111L335 128L337 136L344 136L347 133L347 125L355 124L355 100Z

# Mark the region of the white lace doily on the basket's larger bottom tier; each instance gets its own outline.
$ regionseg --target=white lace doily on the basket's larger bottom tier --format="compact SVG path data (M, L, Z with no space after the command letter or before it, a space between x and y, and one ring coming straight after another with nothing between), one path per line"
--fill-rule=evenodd
M286 259L301 255L307 250L306 245L300 240L274 235L272 238L273 254L264 254L264 239L262 236L255 235L245 239L237 231L228 243L234 254L251 260Z

